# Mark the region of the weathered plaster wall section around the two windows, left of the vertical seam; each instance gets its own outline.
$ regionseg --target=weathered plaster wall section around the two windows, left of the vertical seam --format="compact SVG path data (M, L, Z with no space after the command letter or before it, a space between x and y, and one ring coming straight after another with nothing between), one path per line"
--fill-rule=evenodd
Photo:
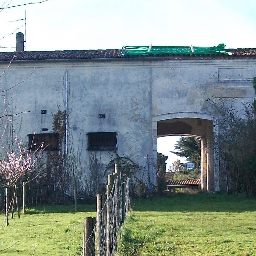
M145 157L152 155L150 69L105 63L14 64L4 74L2 88L22 81L32 71L22 84L6 92L6 101L16 106L16 113L30 111L16 117L16 123L22 123L19 136L24 141L28 133L51 132L52 115L58 109L65 110L67 72L68 122L71 127L77 126L77 131L72 131L72 144L75 150L79 143L83 144L81 159L85 172L90 154L87 132L117 132L116 153L147 168ZM47 114L40 110L47 110ZM99 114L106 118L99 118ZM48 131L41 132L41 128ZM97 155L106 165L116 153L101 151Z

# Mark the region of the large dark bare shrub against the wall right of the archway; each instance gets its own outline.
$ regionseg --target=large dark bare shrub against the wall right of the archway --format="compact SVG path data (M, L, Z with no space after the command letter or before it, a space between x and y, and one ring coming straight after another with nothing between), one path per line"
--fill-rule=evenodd
M256 78L253 79L256 94ZM241 111L224 100L212 102L218 116L215 142L220 155L226 191L256 195L256 100L242 102ZM225 134L225 135L224 135ZM222 181L222 180L221 180Z

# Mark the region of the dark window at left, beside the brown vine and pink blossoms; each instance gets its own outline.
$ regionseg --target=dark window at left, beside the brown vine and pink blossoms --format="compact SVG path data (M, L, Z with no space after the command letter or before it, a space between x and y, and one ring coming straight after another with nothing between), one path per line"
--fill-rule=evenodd
M59 150L59 134L58 133L30 133L28 134L28 147L35 151L44 142L44 150ZM35 145L36 144L36 145Z

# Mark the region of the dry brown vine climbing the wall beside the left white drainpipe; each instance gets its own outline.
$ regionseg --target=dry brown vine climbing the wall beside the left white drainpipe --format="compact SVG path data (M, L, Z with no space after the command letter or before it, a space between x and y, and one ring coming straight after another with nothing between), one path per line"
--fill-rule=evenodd
M27 204L31 207L72 202L72 197L67 195L70 174L66 168L66 112L58 110L52 119L52 132L59 134L59 150L48 151L46 147L38 160L36 168L40 170L40 176L27 189Z

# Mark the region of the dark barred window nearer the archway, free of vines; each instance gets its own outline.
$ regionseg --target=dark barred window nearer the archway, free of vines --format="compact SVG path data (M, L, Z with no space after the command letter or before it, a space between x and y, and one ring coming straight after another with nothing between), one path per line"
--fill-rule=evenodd
M117 150L117 133L88 132L88 150Z

